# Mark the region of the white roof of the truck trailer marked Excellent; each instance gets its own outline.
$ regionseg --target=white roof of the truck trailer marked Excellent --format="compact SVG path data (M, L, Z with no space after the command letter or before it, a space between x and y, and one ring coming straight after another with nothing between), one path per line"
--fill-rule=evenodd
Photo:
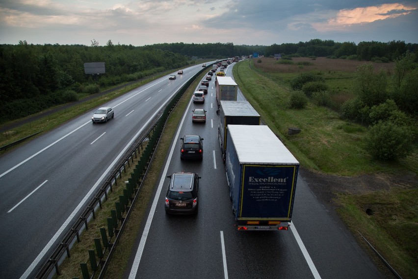
M265 125L228 125L241 164L299 165L286 146Z

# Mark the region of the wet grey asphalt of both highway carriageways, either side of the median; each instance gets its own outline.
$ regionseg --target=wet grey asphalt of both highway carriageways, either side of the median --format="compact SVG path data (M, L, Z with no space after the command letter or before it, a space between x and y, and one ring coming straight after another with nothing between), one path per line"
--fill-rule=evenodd
M234 65L234 64L233 64ZM232 75L232 66L226 70ZM110 101L115 118L92 124L92 112L0 158L0 278L31 278L38 263L77 217L83 203L147 121L201 65ZM238 100L243 100L239 93ZM192 123L194 108L207 122ZM204 104L184 112L169 160L142 222L124 278L383 278L345 226L327 212L299 173L289 231L237 231L218 141L214 81ZM204 138L204 159L180 160L180 138ZM167 216L164 198L175 171L202 176L197 216Z

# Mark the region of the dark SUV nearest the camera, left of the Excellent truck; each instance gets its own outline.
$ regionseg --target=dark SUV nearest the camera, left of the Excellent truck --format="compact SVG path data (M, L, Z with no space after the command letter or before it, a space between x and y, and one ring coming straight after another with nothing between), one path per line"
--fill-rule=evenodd
M167 178L170 178L170 184L165 195L165 212L197 214L197 191L202 177L195 172L175 172Z

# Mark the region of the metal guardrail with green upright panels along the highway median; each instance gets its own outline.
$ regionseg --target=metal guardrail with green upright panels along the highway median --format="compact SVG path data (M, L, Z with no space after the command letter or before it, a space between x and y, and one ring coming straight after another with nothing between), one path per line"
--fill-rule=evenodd
M101 266L101 273L99 275L99 278L103 277L103 273L108 265L108 262L110 261L110 258L113 254L113 251L119 241L119 237L123 231L123 228L125 227L125 221L128 219L129 215L131 214L131 208L136 201L136 197L139 195L140 190L142 188L142 183L146 178L146 175L148 173L148 166L152 162L154 158L154 151L157 147L157 144L159 142L160 136L162 134L163 128L165 126L165 123L168 119L169 114L174 109L174 107L177 105L180 98L183 96L186 89L190 86L190 84L193 83L193 81L204 71L207 70L208 67L203 68L200 70L196 75L194 75L186 84L183 85L182 88L178 90L176 95L173 97L173 99L168 103L168 105L165 107L164 112L161 114L159 119L156 121L156 123L153 125L153 127L148 130L146 133L146 136L143 136L141 140L139 140L138 143L134 144L134 146L131 148L131 151L128 153L128 155L121 160L120 164L117 168L115 168L112 173L107 176L105 182L102 184L100 189L96 192L96 194L92 197L88 205L84 208L83 212L79 216L79 218L74 222L74 224L71 226L71 228L68 229L67 233L64 235L64 237L58 242L56 245L56 248L52 252L52 254L48 257L48 259L43 263L40 270L37 272L37 275L35 276L36 279L46 279L49 278L53 271L55 271L58 275L60 275L59 272L59 261L65 257L64 253L68 257L70 257L70 246L73 243L73 241L77 238L77 241L80 242L80 231L85 228L88 229L88 221L91 219L95 219L95 209L98 207L102 208L102 200L107 200L107 194L108 192L112 192L112 186L113 183L117 185L117 178L121 177L122 171L126 170L126 165L130 164L130 161L133 162L133 156L137 156L136 152L139 151L139 148L142 149L142 155L141 159L138 161L138 165L136 167L136 172L131 174L132 178L129 179L129 183L127 183L127 189L124 189L124 195L119 196L119 208L116 206L116 210L112 217L108 218L108 230L109 230L109 238L107 235L102 233L102 241L105 245L105 251L109 251L107 258L105 261L100 259L99 264L96 264L97 269L94 270L94 272L98 271L98 268ZM144 148L144 142L148 140L147 146ZM136 188L136 185L138 182L141 181L138 185L138 189ZM134 185L132 185L134 184ZM125 191L126 190L126 191ZM132 197L132 194L135 194L134 197ZM131 201L131 206L128 206L129 202ZM126 211L127 210L127 211ZM126 216L122 217L122 214L126 211ZM112 220L112 221L111 221ZM119 229L117 229L120 226ZM116 236L113 244L111 243L112 237ZM99 243L100 245L100 243ZM97 246L97 245L96 245ZM107 246L107 247L106 247ZM100 245L101 249L101 245ZM102 253L103 251L101 251ZM103 255L103 253L102 253ZM90 256L90 259L92 257ZM94 257L95 261L95 257ZM83 265L81 265L83 266ZM85 271L87 270L87 267L81 268L83 273L83 278L89 278L88 271L87 274L85 274ZM94 276L94 274L93 274Z

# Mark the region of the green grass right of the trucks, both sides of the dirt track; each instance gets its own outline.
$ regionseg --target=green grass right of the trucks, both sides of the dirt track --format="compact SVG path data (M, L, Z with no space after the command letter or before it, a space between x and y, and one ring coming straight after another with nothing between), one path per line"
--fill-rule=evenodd
M340 61L343 63L345 60ZM234 67L234 77L240 90L260 113L266 125L278 135L303 167L342 176L370 173L398 176L403 173L418 173L417 152L398 162L381 163L372 160L364 144L366 127L340 119L337 112L309 103L305 109L289 109L289 90L277 86L274 79L290 80L299 72L259 75L252 70L251 61L239 62ZM254 63L259 64L259 63ZM287 65L288 66L288 65ZM339 65L343 67L344 65ZM351 67L355 70L355 67ZM271 71L271 68L269 69ZM354 83L349 75L341 75L347 88ZM328 83L328 80L326 80ZM349 98L350 93L343 94ZM288 135L289 127L298 127L301 132ZM341 194L338 185L335 203L344 223L360 244L360 231L381 252L392 267L404 278L417 278L417 232L418 189L417 185L401 187L388 181L390 191L375 191L366 194ZM414 184L414 183L413 183ZM372 208L368 216L365 208ZM370 256L381 265L380 259Z

